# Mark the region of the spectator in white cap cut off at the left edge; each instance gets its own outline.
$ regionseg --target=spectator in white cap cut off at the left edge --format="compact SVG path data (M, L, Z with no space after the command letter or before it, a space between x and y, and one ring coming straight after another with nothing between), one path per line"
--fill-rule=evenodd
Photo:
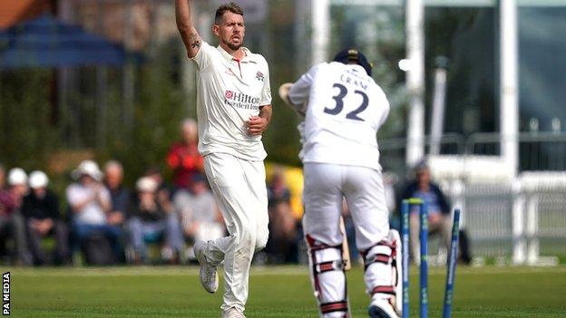
M14 242L12 259L15 265L31 264L25 242L22 200L27 192L27 175L24 169L10 169L7 190L0 189L0 243L5 250L8 239Z

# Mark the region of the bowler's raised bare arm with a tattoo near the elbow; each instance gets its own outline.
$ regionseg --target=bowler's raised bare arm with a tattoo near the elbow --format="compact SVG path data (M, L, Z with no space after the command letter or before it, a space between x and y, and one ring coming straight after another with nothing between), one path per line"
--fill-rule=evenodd
M175 0L175 21L187 48L187 54L193 58L199 53L202 39L190 19L190 0Z

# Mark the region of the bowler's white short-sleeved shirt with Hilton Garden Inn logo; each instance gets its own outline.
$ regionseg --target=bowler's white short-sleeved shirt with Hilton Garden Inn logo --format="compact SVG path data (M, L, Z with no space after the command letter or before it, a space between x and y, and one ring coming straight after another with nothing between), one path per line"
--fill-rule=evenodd
M269 70L265 58L243 48L238 61L220 46L203 42L192 60L197 64L199 152L229 153L240 159L263 160L261 136L251 136L246 120L271 104Z

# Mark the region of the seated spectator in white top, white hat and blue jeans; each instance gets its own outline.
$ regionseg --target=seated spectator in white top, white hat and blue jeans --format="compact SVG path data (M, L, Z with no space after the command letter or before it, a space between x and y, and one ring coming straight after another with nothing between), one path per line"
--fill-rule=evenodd
M87 239L94 235L104 236L112 247L114 260L122 259L120 238L122 228L111 225L106 213L110 212L112 201L110 193L102 184L102 171L91 160L84 160L73 171L72 177L77 182L67 190L67 202L73 213L73 242L71 252L74 253Z

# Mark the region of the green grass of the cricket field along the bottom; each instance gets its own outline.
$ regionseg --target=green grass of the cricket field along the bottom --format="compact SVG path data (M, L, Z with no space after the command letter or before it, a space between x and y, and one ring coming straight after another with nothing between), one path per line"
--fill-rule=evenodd
M5 268L2 268L3 272ZM353 317L366 317L362 271L348 273ZM411 310L417 316L418 278ZM196 267L12 269L14 317L220 317L221 290L207 294ZM440 317L444 269L429 276L429 316ZM458 267L454 317L566 317L566 267ZM307 269L257 267L247 316L317 317Z

